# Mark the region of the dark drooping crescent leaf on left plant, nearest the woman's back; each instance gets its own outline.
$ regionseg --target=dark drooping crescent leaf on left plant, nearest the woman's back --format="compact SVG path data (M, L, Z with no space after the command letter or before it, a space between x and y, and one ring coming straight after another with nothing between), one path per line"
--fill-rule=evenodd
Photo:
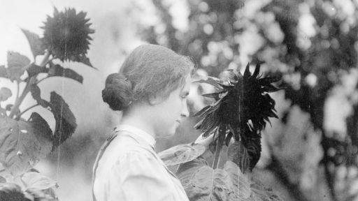
M52 142L54 147L57 147L75 132L77 127L76 118L71 112L69 105L55 91L52 91L50 94L50 107L56 120Z

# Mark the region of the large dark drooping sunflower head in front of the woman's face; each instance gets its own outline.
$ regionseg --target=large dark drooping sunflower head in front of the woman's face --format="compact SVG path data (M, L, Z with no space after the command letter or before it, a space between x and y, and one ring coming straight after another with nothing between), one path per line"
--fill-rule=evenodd
M259 75L259 64L252 75L249 69L250 64L246 66L243 75L228 70L229 77L224 81L215 77L198 81L213 85L218 92L203 94L215 98L215 102L194 114L201 117L194 128L201 129L203 137L214 133L215 143L220 145L224 142L228 145L234 137L236 142L243 145L238 155L248 156L245 160L248 160L248 168L252 170L260 158L261 131L266 122L270 122L268 117L278 118L275 101L267 93L280 90L271 84L280 78L262 77ZM240 163L243 163L244 159L238 157Z

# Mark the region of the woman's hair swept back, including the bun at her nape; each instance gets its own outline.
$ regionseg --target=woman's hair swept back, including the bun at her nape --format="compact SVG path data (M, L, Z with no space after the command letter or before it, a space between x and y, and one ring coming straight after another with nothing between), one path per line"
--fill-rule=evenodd
M193 72L189 57L159 45L141 45L129 54L120 73L108 75L102 98L112 110L125 110L132 102L150 97L165 99L183 87Z

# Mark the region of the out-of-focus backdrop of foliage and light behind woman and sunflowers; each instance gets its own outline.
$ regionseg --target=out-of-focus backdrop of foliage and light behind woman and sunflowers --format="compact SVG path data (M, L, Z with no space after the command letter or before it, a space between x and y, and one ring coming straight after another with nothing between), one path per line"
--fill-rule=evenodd
M89 72L81 64L67 64L83 75L83 86L55 78L40 86L44 91L57 87L78 119L73 137L37 167L59 181L59 200L91 199L96 153L120 119L120 113L102 103L101 89L106 75L116 72L141 43L164 45L192 57L197 68L194 79L225 77L223 70L243 70L249 61L262 64L265 75L282 76L283 90L272 94L280 119L271 119L272 126L263 132L255 177L282 193L284 200L358 200L358 1L53 2L57 8L88 12L96 30L88 57L99 69ZM35 26L21 21L33 13L22 8L25 2L1 3L2 27L13 26L12 22L31 30L53 6L47 1L29 3L38 10L39 17L31 18ZM19 9L23 14L11 18ZM13 37L16 29L9 29ZM6 33L0 37L5 44L1 51L29 53L11 43L15 39L8 40L11 36ZM5 57L6 52L0 53ZM11 86L0 80L2 84ZM207 84L192 84L192 114L210 103L200 96L210 91ZM199 135L192 128L196 120L189 117L174 137L159 140L157 151L194 140Z

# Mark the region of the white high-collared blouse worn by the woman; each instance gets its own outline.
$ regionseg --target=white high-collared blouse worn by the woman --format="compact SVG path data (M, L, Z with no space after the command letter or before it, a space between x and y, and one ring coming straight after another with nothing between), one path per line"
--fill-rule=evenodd
M145 131L116 126L94 164L94 201L189 200L154 146L154 137Z

